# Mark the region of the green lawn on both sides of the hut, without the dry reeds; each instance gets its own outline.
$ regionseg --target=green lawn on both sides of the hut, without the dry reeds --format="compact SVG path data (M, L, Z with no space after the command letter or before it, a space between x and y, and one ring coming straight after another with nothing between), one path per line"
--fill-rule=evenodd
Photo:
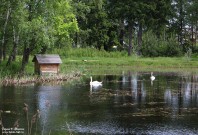
M20 57L20 56L19 56ZM187 59L185 57L154 57L144 58L137 56L119 56L119 57L78 57L60 55L62 59L61 73L66 74L71 71L84 71L86 69L99 70L107 69L115 71L117 69L136 69L136 70L198 70L198 57ZM27 74L34 73L33 56L26 67ZM10 67L6 67L6 62L0 65L0 78L5 76L18 75L21 58L14 62Z

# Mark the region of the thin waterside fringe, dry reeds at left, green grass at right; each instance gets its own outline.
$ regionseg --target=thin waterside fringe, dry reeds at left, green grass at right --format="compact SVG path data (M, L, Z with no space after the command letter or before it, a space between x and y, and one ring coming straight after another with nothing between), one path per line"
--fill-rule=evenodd
M76 69L80 69L83 67L84 72L89 72L88 74L97 75L100 74L109 74L109 72L117 72L117 71L153 71L153 72L198 72L198 68L196 67L166 67L166 66L126 66L126 65L70 65L69 67L70 73L60 73L60 74L48 74L48 75L24 75L22 77L6 76L0 79L0 86L9 86L9 85L25 85L31 83L50 83L50 82L62 82L62 81L70 81L76 78L79 78L84 73L83 71L72 71L75 67ZM105 73L104 73L105 71ZM86 74L86 73L85 73Z

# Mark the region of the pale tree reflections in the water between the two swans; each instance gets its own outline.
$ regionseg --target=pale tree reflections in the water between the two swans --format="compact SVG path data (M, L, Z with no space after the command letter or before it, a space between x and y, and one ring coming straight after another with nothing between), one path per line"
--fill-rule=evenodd
M109 82L112 82L110 77L107 78ZM115 103L141 104L145 101L144 82L139 79L137 72L122 72L121 78L114 77L113 79L114 83L109 85L111 85L110 89L112 90L110 95L114 96Z

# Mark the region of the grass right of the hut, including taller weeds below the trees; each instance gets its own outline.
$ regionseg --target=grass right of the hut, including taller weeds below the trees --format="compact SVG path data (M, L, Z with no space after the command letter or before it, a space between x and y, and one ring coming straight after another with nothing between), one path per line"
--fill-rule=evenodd
M167 68L196 68L198 67L198 55L181 57L153 57L145 58L137 55L127 56L127 52L98 51L93 48L71 49L67 48L63 52L54 50L51 53L60 54L63 65L79 66L130 66L130 67L167 67ZM64 66L63 66L64 67Z

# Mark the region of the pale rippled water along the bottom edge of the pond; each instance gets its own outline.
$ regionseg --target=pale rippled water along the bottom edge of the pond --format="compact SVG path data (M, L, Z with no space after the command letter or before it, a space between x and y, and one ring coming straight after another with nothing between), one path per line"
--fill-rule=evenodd
M69 125L69 129L68 129ZM145 125L145 127L123 128L112 122L95 122L84 124L81 122L68 123L62 126L62 131L69 130L79 134L101 134L101 135L197 135L197 129L187 129L184 127Z

